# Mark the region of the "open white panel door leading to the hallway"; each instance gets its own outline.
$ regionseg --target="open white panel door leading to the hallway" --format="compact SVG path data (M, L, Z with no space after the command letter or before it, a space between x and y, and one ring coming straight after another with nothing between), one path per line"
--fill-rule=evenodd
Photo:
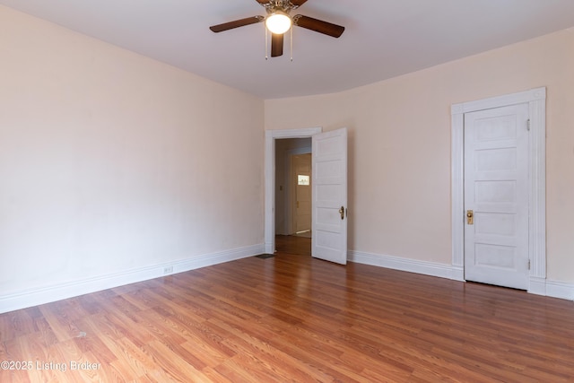
M347 263L347 129L312 137L311 255Z

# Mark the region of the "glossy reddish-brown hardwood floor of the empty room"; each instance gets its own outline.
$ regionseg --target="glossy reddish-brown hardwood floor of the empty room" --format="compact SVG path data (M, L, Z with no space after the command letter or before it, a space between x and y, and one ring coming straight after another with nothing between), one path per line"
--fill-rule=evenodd
M2 314L0 381L574 381L573 302L335 265L295 240Z

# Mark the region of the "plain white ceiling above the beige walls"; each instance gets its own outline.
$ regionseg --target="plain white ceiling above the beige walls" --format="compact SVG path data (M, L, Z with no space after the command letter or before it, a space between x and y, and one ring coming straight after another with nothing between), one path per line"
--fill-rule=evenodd
M574 0L309 0L292 14L343 25L334 39L295 27L265 60L256 0L0 0L0 4L263 99L344 91L574 26Z

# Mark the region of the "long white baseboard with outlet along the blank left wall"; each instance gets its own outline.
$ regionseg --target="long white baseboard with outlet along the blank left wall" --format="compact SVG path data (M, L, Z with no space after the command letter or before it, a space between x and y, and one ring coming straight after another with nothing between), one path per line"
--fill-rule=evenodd
M264 253L264 250L264 244L246 248L234 248L176 262L138 267L121 273L101 275L70 283L58 283L42 288L0 295L0 313L38 306L56 300L65 300L91 292L100 292L117 286L147 281L170 274L183 273L240 258L252 257ZM165 273L166 268L171 268L171 272Z

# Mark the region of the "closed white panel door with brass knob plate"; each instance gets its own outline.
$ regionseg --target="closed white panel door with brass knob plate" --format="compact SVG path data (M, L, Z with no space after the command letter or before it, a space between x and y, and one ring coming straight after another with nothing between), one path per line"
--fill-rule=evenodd
M528 105L465 114L465 279L528 288Z

